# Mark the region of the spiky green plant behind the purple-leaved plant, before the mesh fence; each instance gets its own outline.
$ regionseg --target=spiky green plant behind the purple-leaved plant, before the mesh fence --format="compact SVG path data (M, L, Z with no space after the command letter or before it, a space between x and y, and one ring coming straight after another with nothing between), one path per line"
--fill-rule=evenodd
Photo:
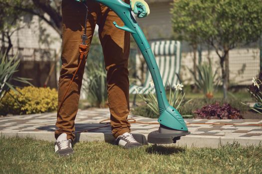
M197 87L203 90L207 98L213 98L214 91L220 83L220 78L217 77L217 72L213 72L212 65L208 63L203 63L197 66L199 77L190 70L194 77Z

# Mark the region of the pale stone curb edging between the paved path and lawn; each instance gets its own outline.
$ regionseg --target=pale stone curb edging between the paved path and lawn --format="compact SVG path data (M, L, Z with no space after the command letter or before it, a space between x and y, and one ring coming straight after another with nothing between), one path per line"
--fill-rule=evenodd
M35 138L37 140L45 140L49 142L54 142L54 132L26 132L26 131L0 131L0 134L5 137L21 137L21 138ZM143 137L147 137L146 134L142 135L142 140L145 141ZM135 137L136 138L136 137ZM111 133L90 133L82 132L76 134L76 142L94 142L94 141L105 141L108 143L114 142L114 137ZM175 145L177 146L187 146L187 147L197 147L197 148L219 148L222 145L228 143L232 144L234 142L240 143L242 146L250 145L260 145L262 144L262 139L254 137L219 137L219 136L200 136L200 135L187 135L181 137Z

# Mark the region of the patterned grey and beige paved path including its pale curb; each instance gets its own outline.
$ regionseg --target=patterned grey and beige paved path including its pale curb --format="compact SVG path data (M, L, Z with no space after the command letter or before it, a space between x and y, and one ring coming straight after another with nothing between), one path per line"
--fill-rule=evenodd
M76 139L78 141L113 141L110 125L100 123L109 117L108 109L79 110L75 120L75 127L78 132ZM157 119L142 116L129 115L128 118L139 122L157 122ZM56 113L2 117L0 118L0 133L5 136L29 136L54 141L55 121ZM262 143L262 126L247 125L262 124L262 120L185 119L185 121L191 134L181 137L181 140L177 141L177 145L217 148L220 145L233 143L234 141L242 145ZM237 125L225 125L224 123ZM133 123L131 124L131 131L147 137L151 131L157 130L158 127L158 124ZM83 132L87 130L89 131Z

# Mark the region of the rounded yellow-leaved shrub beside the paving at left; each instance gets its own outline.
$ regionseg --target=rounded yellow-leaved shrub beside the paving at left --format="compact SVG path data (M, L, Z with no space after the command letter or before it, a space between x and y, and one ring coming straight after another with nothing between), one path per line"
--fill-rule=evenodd
M51 112L57 109L57 91L49 87L23 87L10 90L2 98L0 115Z

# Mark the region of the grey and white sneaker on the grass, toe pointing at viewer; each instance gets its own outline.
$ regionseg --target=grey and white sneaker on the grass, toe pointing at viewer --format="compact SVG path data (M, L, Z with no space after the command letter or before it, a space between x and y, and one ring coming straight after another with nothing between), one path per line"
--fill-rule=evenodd
M54 152L58 153L60 156L69 156L74 153L71 140L67 140L66 137L66 133L62 133L54 143Z

